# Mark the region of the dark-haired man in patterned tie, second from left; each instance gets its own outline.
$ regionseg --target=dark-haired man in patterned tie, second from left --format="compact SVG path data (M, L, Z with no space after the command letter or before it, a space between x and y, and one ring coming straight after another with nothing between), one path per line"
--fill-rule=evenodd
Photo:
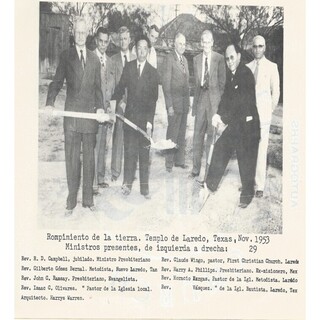
M107 46L109 44L109 35L106 28L100 27L96 33L95 54L99 58L101 64L101 89L103 94L103 108L105 112L110 112L110 82L111 82L111 59L106 55ZM105 181L106 171L106 144L107 132L110 123L100 123L97 133L97 142L95 151L95 178L94 192L98 193L100 188L107 188L109 185Z

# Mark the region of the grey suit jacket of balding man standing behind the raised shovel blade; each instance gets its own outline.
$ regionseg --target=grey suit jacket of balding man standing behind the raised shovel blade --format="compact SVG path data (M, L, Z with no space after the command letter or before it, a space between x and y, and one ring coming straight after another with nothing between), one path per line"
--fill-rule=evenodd
M190 106L189 68L182 56L183 66L175 51L166 56L162 72L162 89L167 110L173 107L176 113L188 113Z

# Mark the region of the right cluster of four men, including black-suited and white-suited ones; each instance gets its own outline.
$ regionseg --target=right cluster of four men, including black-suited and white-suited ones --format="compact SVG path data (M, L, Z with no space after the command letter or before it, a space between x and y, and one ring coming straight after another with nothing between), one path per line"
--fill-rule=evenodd
M253 39L255 59L248 66L241 62L237 45L228 45L223 57L212 50L213 43L212 32L205 30L201 35L202 53L193 59L195 93L192 116L195 121L193 167L189 177L200 175L203 151L206 150L208 157L210 145L215 144L205 174L206 181L203 181L211 192L215 192L231 156L236 152L242 184L239 207L246 208L254 195L258 198L263 196L272 111L279 101L279 73L277 65L264 56L266 44L262 36ZM163 69L167 139L172 139L179 146L177 150L167 152L168 172L172 172L173 165L184 169L188 167L184 153L190 100L184 50L185 37L178 33L175 49L167 55ZM215 143L217 136L220 138Z

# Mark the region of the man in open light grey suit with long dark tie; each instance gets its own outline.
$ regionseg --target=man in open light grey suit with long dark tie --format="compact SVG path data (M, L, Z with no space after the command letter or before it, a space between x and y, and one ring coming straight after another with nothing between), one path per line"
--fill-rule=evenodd
M212 50L213 35L209 30L201 35L203 52L193 59L195 94L192 115L195 116L193 134L193 168L190 177L199 176L205 134L207 134L206 150L208 152L213 139L211 124L213 115L224 91L226 70L223 56Z

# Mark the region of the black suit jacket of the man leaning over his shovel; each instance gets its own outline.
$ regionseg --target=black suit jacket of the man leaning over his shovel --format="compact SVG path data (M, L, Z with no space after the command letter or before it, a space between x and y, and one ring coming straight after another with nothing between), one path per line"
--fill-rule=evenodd
M226 86L217 113L235 136L247 140L260 138L255 80L245 65L240 63L234 75L227 71Z

